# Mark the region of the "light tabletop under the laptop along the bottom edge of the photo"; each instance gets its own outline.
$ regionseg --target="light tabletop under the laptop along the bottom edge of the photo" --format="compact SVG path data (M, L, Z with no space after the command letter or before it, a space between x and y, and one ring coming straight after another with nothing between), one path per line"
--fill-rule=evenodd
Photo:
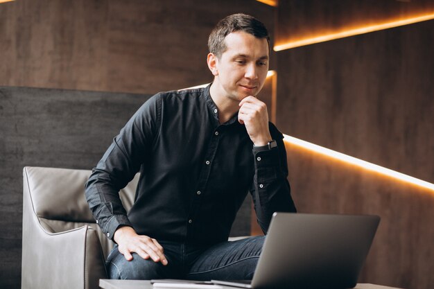
M100 279L100 288L103 289L152 289L153 286L148 280L110 280L110 279ZM232 288L234 287L226 287ZM358 283L354 289L397 289L394 287L374 285L368 283Z

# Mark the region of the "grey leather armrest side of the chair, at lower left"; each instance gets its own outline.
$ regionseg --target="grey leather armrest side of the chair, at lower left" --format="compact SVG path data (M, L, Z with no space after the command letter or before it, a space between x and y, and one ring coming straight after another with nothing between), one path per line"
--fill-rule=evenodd
M98 288L98 280L107 273L96 231L87 225L46 231L27 188L24 178L21 289Z

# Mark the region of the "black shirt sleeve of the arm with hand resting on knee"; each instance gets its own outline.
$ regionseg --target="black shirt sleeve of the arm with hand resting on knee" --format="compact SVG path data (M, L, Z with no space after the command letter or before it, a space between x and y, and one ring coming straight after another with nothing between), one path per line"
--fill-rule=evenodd
M107 238L112 239L116 229L122 225L132 227L119 191L146 163L159 130L160 118L161 96L157 94L147 100L114 137L85 184L89 208Z

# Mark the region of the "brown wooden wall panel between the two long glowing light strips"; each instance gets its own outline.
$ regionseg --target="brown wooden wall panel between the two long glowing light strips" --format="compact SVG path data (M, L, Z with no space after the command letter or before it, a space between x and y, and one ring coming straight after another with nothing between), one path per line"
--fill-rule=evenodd
M434 21L278 53L280 127L434 182Z

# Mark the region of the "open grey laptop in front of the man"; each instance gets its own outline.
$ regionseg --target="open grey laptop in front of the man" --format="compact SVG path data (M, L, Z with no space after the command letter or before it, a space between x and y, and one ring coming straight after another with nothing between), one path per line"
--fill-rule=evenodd
M379 216L274 213L253 279L211 280L253 289L354 288Z

